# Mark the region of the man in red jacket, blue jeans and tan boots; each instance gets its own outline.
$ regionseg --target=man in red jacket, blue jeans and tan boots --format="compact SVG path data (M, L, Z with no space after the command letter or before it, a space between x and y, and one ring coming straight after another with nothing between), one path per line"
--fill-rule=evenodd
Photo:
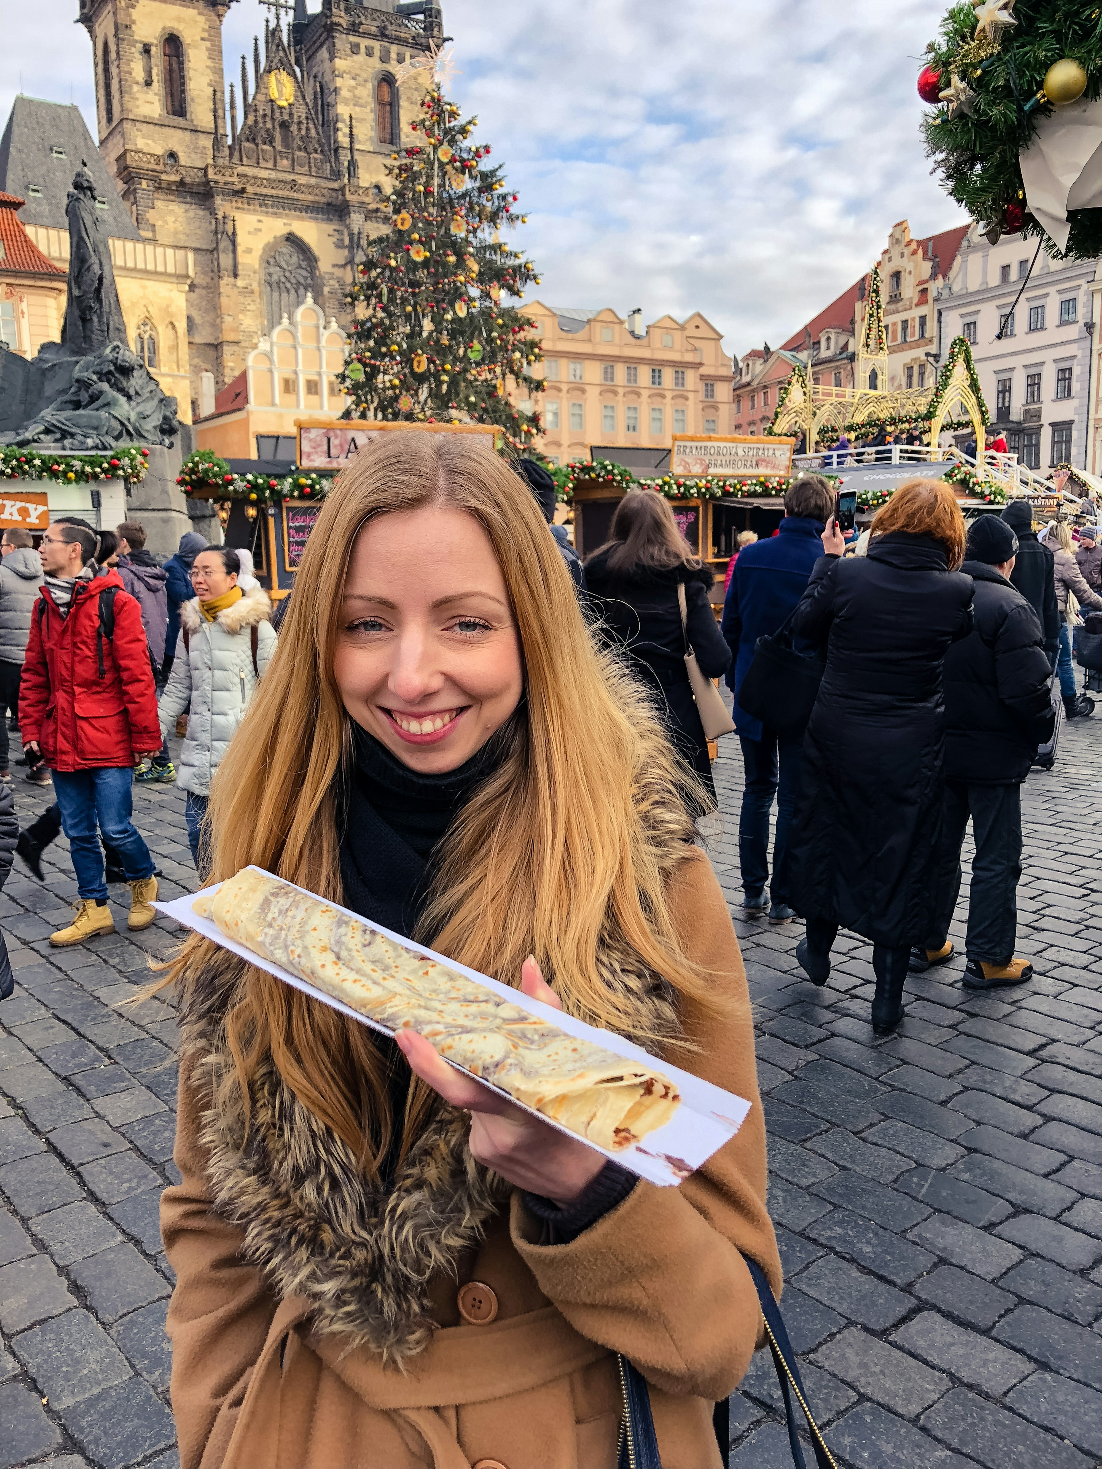
M53 771L76 870L76 917L50 934L65 946L115 931L97 820L131 887L128 927L157 917L153 858L131 811L134 765L160 749L160 723L141 608L118 571L96 576L94 533L51 524L40 555L46 583L31 616L19 720L28 764L44 759Z

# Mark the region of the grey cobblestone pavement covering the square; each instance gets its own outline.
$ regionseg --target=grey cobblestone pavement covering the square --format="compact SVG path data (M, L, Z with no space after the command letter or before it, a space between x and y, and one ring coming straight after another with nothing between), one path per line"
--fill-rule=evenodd
M1102 717L1073 724L1026 787L1018 949L1039 974L1021 990L971 995L957 961L912 977L905 1022L877 1040L861 940L839 939L818 990L798 924L736 923L785 1319L839 1465L1102 1462L1099 752ZM736 740L716 770L711 851L736 906ZM24 824L50 799L16 780ZM191 890L182 793L140 787L135 817L162 892ZM175 934L128 936L116 889L118 934L51 952L75 898L65 842L44 865L43 889L16 861L0 898L18 978L0 1006L0 1469L172 1469L157 1202L175 1177L175 1024L162 1000L118 1005ZM760 1354L732 1400L732 1466L789 1469L779 1403Z

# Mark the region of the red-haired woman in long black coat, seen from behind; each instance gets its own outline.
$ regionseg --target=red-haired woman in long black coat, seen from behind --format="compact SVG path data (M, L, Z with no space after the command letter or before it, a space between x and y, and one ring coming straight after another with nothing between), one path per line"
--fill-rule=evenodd
M865 557L823 544L792 618L798 638L827 649L789 846L792 906L807 920L796 959L826 984L839 927L871 939L883 1034L902 1019L911 946L934 921L942 663L971 632L973 583L957 570L964 520L940 480L896 489Z

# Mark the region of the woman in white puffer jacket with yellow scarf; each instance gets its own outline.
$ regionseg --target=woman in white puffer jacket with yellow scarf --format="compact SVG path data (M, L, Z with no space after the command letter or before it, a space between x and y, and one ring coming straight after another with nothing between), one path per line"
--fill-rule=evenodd
M276 646L267 593L256 582L242 592L240 571L238 554L228 546L209 546L195 557L197 595L179 610L176 661L160 698L162 739L191 707L176 784L188 793L188 842L201 880L209 868L201 836L210 782Z

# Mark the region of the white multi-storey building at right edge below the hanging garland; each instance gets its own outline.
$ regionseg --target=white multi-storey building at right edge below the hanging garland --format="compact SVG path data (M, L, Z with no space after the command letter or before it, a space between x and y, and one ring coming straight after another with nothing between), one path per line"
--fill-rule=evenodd
M1036 248L1036 239L1021 235L992 245L977 225L968 226L948 281L934 292L937 351L954 336L971 342L990 422L1023 464L1042 474L1062 463L1089 469L1098 261L1052 260L1042 250L1021 291ZM957 435L961 442L967 436Z

